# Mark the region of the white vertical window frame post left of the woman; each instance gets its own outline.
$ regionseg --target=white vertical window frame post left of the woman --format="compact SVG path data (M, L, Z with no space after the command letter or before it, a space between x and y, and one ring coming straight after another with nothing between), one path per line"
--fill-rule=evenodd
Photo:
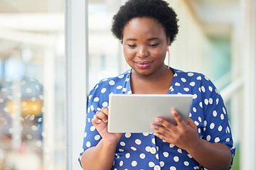
M82 152L87 103L88 27L87 0L65 1L65 142L66 169L82 169Z

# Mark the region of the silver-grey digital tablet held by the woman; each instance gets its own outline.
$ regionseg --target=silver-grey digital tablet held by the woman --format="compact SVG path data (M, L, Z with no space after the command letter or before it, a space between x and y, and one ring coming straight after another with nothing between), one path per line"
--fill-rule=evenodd
M151 129L156 116L176 123L171 109L175 108L188 123L191 94L110 94L109 132L156 132Z

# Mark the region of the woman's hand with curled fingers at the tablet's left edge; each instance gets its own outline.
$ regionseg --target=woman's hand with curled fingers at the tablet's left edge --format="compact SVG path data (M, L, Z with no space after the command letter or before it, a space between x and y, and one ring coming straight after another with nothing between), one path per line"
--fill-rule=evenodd
M102 139L108 144L117 144L122 133L110 133L107 131L109 109L103 107L101 111L97 111L95 118L92 118L92 124L102 136Z

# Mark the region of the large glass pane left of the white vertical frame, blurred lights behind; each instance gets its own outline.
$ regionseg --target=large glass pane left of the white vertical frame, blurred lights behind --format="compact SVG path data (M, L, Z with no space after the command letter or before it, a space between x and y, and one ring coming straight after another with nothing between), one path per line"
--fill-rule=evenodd
M65 169L64 5L0 1L0 169Z

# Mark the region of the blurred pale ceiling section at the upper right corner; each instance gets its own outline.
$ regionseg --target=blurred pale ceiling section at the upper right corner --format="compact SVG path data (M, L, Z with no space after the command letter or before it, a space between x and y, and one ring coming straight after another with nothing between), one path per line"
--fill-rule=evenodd
M185 0L210 35L230 34L240 17L240 0Z

